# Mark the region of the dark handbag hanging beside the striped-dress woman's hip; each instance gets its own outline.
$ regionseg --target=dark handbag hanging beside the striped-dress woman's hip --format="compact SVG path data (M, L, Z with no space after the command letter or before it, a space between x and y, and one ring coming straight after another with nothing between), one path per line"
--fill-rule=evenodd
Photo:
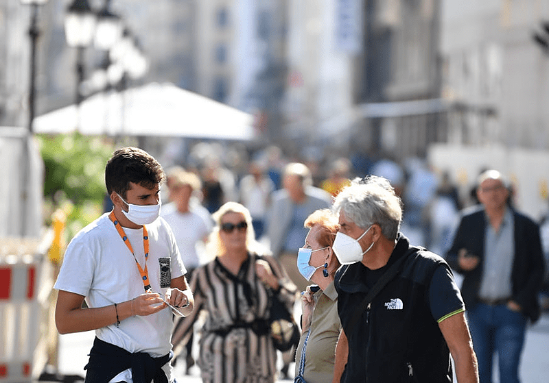
M269 324L272 343L278 350L288 351L299 343L299 326L276 291L270 295Z

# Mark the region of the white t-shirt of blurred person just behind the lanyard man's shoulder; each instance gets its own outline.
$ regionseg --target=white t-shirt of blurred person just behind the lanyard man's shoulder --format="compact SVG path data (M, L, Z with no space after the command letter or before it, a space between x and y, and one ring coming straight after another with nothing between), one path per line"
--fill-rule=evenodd
M185 266L196 269L200 266L200 255L196 245L202 242L210 230L207 223L196 212L182 213L175 210L163 216L163 219L172 228L176 243Z

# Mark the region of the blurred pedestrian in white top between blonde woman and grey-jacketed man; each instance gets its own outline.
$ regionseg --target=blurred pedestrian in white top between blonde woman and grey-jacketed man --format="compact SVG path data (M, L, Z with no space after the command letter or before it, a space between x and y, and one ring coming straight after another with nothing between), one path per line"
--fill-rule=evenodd
M251 162L249 171L240 181L240 202L250 210L255 238L259 239L264 234L274 183L266 175L265 166L259 161Z

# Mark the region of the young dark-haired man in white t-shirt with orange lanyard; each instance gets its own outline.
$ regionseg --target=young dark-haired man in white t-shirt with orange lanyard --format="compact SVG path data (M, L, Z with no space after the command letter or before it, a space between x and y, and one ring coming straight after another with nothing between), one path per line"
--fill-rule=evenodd
M194 300L174 234L159 219L164 180L145 151L117 149L105 168L113 211L84 227L65 252L56 325L61 334L95 330L86 382L174 382L166 302L187 316Z

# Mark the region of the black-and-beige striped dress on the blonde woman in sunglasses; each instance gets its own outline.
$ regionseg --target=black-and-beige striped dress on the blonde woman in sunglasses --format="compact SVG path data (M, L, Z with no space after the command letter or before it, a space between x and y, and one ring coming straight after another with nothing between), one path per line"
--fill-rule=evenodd
M255 273L255 260L270 264L281 286L281 300L292 306L296 287L271 256L248 254L240 271L234 275L218 258L198 267L191 277L194 310L175 325L172 343L178 355L193 330L201 312L207 312L200 338L198 367L204 382L272 383L276 379L276 349L268 332L253 330L242 323L265 323L272 293ZM238 325L237 323L241 323Z

